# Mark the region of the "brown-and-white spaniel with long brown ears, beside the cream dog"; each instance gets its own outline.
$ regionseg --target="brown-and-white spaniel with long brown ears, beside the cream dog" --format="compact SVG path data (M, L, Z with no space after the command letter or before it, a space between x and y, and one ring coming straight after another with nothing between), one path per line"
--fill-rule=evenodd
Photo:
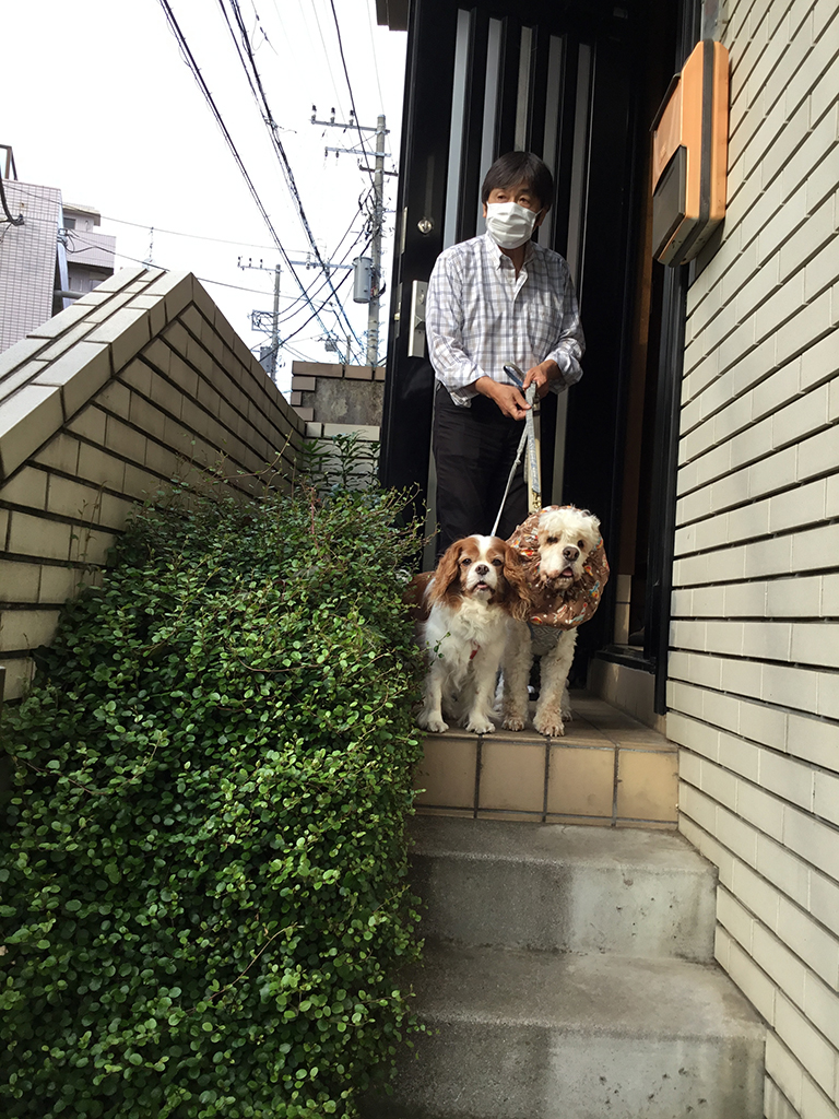
M445 709L468 731L489 734L508 629L531 604L518 554L498 536L455 540L437 564L426 602L422 643L428 668L417 722L437 734L447 731Z

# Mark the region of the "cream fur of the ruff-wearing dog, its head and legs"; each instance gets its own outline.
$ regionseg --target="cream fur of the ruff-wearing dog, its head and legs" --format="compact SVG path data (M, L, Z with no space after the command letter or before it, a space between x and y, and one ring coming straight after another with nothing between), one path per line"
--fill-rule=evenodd
M546 509L538 520L538 562L530 568L537 610L573 599L578 593L585 562L600 543L600 520L573 508ZM510 627L503 658L501 717L508 731L520 731L527 721L530 667L541 657L539 699L534 726L539 734L558 737L569 721L568 673L577 643L576 629L550 626ZM553 646L553 647L552 647Z

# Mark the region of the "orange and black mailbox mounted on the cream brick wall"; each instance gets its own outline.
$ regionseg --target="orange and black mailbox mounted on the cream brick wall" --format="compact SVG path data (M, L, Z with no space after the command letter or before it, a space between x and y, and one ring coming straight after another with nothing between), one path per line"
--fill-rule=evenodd
M652 255L691 261L725 217L728 51L694 48L652 122Z

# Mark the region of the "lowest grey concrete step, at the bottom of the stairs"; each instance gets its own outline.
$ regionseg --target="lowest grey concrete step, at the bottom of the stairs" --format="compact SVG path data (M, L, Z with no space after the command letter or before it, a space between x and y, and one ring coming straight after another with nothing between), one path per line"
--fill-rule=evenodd
M713 965L432 946L430 1033L365 1119L760 1119L764 1028Z

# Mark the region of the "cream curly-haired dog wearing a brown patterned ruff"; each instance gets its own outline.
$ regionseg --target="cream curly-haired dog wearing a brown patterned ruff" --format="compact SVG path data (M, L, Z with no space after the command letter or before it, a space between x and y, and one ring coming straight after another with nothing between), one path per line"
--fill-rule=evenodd
M510 544L525 563L535 606L529 622L510 627L501 717L508 731L524 727L530 667L534 657L541 657L534 726L556 737L571 718L567 680L577 627L597 609L609 579L600 521L584 509L552 506L520 525Z

